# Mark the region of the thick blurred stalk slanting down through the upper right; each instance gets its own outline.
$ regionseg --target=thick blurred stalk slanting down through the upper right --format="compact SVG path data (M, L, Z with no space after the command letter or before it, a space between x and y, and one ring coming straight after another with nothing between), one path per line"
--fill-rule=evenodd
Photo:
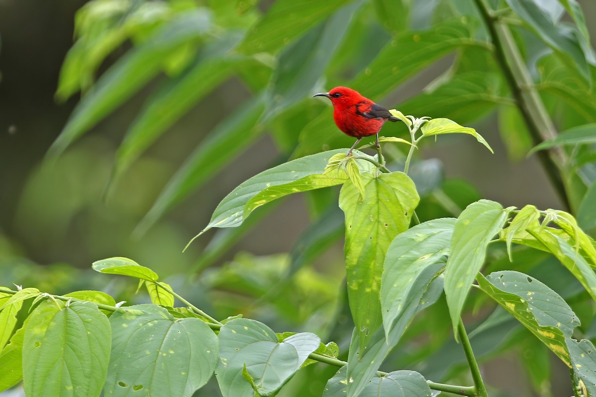
M524 63L522 54L520 54L519 48L517 48L513 36L511 36L509 27L499 22L498 16L491 14L492 10L486 5L485 0L474 0L474 2L491 35L495 47L496 61L513 94L534 145L552 139L557 136L557 129L548 116L548 112ZM553 148L548 152L538 152L538 158L561 201L569 209L569 197L560 172L566 164L564 152L560 148Z

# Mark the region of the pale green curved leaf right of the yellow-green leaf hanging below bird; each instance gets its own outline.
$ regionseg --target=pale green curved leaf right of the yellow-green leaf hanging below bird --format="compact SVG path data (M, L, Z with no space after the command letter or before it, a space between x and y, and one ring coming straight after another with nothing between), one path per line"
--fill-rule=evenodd
M391 242L381 277L381 309L386 332L405 309L404 301L413 286L412 280L448 255L455 221L455 218L427 221L400 233Z

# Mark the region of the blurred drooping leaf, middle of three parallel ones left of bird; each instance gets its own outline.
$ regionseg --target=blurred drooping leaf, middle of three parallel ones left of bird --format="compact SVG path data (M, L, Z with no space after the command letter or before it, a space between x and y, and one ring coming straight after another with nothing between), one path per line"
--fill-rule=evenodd
M168 127L213 88L224 82L234 68L246 60L245 57L226 54L237 41L237 36L226 36L212 43L182 76L166 80L145 102L116 153L116 176L125 171Z

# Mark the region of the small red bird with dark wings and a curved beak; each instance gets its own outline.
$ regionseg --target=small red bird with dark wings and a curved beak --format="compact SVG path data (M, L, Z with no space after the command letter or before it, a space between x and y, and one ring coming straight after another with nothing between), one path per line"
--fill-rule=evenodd
M378 132L385 121L399 121L399 118L393 117L389 110L364 98L358 91L348 87L335 87L330 92L316 93L313 98L315 96L327 96L331 99L333 120L335 120L337 128L346 135L358 138L347 152L349 156L365 136L377 135L378 148Z

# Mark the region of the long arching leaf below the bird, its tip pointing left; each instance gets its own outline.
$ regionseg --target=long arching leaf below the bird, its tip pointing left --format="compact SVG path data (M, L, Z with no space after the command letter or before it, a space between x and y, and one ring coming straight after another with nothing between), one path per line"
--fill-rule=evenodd
M347 179L345 174L323 174L323 172L331 156L346 151L347 149L336 149L302 157L253 176L232 190L219 203L209 224L195 238L212 227L239 226L255 208L274 199L291 193L340 185ZM355 154L367 156L360 152ZM370 165L367 165L368 162L363 160L358 162L359 168L371 169Z

